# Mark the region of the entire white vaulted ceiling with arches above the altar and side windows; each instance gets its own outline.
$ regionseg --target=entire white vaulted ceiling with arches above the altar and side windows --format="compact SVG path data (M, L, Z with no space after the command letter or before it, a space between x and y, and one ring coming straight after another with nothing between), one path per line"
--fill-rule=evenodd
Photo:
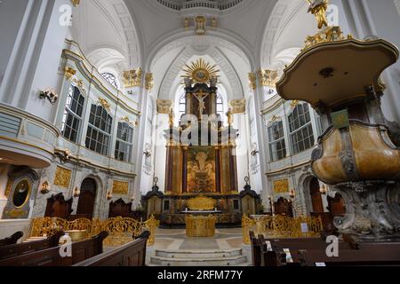
M152 72L157 98L172 98L181 68L202 56L220 67L220 80L230 99L241 99L249 92L249 72L289 64L305 35L316 31L303 0L234 0L222 10L172 9L168 1L160 1L82 1L71 29L73 39L100 71L113 69L121 74L142 67ZM184 6L184 1L169 2ZM216 17L218 28L207 28L206 36L196 36L193 28L186 30L184 18L198 14Z

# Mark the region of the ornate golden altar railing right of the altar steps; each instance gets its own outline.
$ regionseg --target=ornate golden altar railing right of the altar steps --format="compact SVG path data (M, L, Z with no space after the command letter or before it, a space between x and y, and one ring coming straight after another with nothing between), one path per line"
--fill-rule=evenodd
M307 230L302 225L307 224ZM263 234L267 238L314 238L320 236L323 229L321 217L284 217L262 216L258 219L242 217L243 242L250 244L250 231L255 235Z

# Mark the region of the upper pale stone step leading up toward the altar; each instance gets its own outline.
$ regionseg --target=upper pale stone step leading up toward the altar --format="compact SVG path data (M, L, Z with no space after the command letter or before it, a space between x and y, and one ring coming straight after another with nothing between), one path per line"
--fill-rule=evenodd
M156 256L166 258L224 258L241 256L242 248L225 250L168 250L156 249Z

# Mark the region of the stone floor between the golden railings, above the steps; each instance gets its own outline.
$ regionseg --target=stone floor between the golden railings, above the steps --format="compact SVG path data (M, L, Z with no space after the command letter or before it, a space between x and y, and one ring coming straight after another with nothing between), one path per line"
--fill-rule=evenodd
M242 248L242 229L216 229L213 238L188 238L185 229L156 229L155 249L233 249Z

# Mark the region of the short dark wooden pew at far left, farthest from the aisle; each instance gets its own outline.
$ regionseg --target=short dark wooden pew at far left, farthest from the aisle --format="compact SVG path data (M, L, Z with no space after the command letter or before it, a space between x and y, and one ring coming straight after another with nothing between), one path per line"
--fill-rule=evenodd
M26 255L47 248L58 247L60 237L63 235L64 232L57 232L54 235L52 235L52 237L41 241L22 242L18 244L0 247L0 260L11 258L14 256Z

